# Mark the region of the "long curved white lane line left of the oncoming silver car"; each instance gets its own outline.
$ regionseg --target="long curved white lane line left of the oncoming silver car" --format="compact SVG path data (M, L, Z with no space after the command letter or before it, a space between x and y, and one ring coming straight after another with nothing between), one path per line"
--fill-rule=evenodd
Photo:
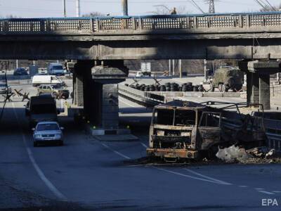
M40 169L39 165L37 165L37 162L35 161L34 156L32 155L32 151L27 146L27 141L25 139L25 134L22 131L22 127L20 126L18 115L15 112L15 105L14 105L14 103L13 103L13 113L15 114L15 119L17 120L18 127L20 127L20 132L22 134L22 141L25 144L25 150L27 151L28 158L30 158L30 161L32 162L32 165L33 165L34 169L36 170L37 174L39 175L40 179L44 182L44 184L50 189L50 191L56 197L58 197L60 200L66 201L67 198L63 195L63 193L60 193L60 191L58 191L58 189L55 188L55 186L51 183L51 181L48 180L47 177L45 176L45 174L42 172L42 170Z

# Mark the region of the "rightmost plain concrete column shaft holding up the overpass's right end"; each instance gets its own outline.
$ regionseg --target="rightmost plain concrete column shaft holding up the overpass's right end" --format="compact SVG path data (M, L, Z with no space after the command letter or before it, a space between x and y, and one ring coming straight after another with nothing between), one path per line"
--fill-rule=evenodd
M259 103L270 110L270 75L259 75Z

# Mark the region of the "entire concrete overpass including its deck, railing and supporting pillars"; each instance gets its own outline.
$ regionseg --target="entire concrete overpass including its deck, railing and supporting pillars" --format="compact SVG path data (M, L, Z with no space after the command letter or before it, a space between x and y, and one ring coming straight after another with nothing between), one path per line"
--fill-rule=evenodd
M124 59L246 59L248 101L269 108L280 71L281 12L0 19L0 59L75 59L74 102L89 120L118 126ZM261 89L260 89L261 88Z

